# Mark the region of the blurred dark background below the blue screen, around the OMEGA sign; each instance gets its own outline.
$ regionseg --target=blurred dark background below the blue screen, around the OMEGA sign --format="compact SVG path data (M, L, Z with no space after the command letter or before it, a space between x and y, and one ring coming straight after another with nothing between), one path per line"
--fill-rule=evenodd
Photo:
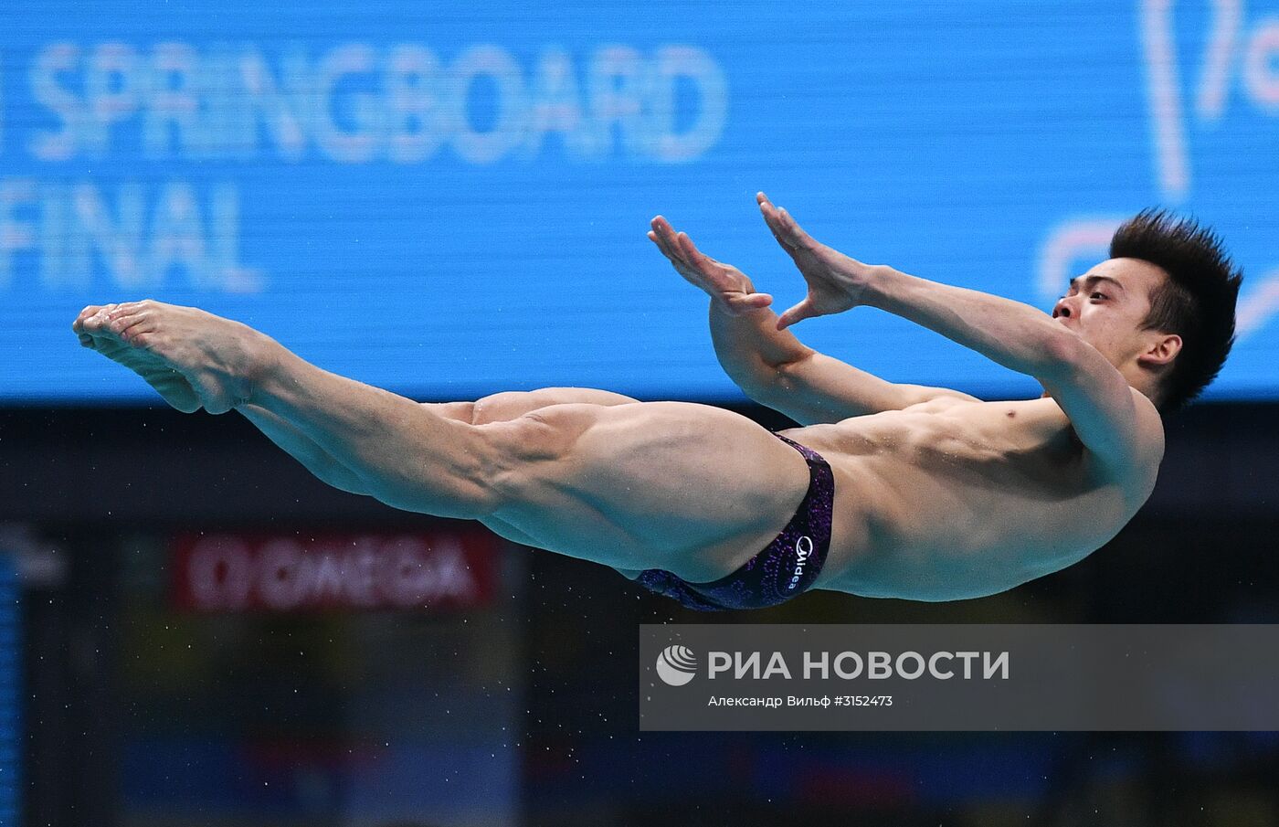
M640 734L636 699L640 623L1276 622L1276 413L1172 420L1137 518L1013 591L706 616L494 538L469 602L200 608L191 538L473 529L326 488L234 413L3 408L22 823L1279 823L1274 732Z

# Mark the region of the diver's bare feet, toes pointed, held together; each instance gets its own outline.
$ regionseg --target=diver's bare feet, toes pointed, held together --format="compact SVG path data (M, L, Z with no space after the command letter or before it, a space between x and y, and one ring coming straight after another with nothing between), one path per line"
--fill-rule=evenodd
M248 402L265 335L196 307L156 301L91 305L72 324L81 344L120 362L179 411L224 413Z

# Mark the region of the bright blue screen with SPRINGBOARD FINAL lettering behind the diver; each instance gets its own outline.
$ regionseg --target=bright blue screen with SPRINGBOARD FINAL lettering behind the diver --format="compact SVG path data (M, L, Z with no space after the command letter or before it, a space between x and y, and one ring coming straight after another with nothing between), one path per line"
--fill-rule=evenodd
M1279 6L0 6L8 402L157 401L78 347L88 303L252 324L418 398L729 398L666 215L779 310L764 189L863 261L1050 307L1126 215L1248 282L1211 396L1279 397ZM880 311L807 344L899 381L1036 385Z

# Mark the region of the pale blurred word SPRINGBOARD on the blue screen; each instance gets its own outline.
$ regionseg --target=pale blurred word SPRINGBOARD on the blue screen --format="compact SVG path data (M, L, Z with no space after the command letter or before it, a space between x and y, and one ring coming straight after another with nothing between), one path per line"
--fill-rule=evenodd
M492 164L513 151L537 155L555 133L570 159L674 164L710 151L728 113L723 68L691 46L645 55L610 45L581 65L547 46L524 65L491 44L443 64L420 44L382 52L348 42L310 58L290 47L269 58L257 44L201 51L170 41L145 51L104 42L86 51L59 42L38 51L29 81L58 123L31 138L42 160L101 157L136 122L151 159L271 151L299 161L311 151L343 164L408 164L448 142L463 161Z

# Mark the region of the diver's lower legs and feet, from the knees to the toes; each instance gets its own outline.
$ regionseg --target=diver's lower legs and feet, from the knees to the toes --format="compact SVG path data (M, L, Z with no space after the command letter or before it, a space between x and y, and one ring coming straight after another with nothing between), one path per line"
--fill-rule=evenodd
M210 413L265 408L388 504L444 517L490 510L491 454L476 426L321 370L247 325L148 300L86 307L73 330L119 348L96 349L138 373L175 371Z

